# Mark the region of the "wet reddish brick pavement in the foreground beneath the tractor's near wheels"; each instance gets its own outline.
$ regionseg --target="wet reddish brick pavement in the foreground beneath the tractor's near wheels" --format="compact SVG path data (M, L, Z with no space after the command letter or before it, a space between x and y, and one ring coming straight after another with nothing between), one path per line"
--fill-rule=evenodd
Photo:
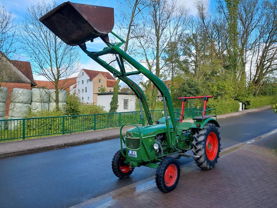
M223 152L212 170L181 166L179 183L170 193L160 192L153 176L73 207L277 207L276 137Z

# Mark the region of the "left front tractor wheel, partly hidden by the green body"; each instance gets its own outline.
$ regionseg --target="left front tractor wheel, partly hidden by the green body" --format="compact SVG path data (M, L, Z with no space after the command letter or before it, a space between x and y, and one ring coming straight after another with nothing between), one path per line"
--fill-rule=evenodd
M126 148L123 149L123 153L126 155ZM125 157L121 154L121 150L115 153L112 160L113 173L121 179L129 177L134 171L134 168L129 168L124 160Z

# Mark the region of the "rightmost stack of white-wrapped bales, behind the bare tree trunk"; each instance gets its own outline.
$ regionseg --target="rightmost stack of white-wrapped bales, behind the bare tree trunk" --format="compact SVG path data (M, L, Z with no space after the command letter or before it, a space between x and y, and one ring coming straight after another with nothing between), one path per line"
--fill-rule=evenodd
M55 90L49 90L50 94L50 103L49 110L52 111L56 108L56 92ZM66 111L66 99L67 92L65 90L59 90L59 110L65 112Z

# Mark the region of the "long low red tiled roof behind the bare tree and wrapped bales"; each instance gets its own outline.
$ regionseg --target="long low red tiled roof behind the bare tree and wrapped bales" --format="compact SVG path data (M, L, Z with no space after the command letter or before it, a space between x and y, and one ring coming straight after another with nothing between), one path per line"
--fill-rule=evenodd
M58 82L59 89L67 89L70 86L74 85L76 86L76 78L77 77L72 77L68 79L61 79ZM37 87L45 87L48 90L50 89L55 89L55 84L53 81L40 81L40 80L35 80L35 82L38 84ZM73 87L74 88L74 87Z

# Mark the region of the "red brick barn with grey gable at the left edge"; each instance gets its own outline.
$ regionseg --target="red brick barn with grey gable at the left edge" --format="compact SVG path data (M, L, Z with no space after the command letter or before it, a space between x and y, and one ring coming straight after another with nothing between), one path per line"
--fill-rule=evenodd
M6 101L6 113L10 106L10 94L13 88L23 88L31 90L31 87L36 86L33 79L33 73L30 62L10 60L0 52L0 77L1 87L8 88L8 99Z

